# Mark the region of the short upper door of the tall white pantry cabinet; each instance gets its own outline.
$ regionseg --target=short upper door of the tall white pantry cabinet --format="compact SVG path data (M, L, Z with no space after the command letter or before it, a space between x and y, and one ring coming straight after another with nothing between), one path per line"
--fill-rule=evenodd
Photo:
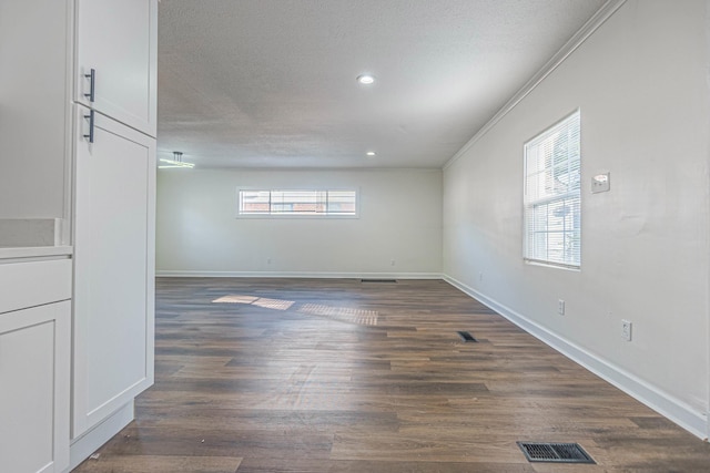
M155 136L155 0L75 0L74 100ZM91 95L91 70L93 102Z

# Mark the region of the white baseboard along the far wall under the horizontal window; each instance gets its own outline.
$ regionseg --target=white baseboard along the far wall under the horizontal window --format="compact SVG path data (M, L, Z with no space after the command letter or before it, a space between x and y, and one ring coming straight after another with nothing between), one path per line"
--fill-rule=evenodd
M190 271L156 270L163 278L321 278L321 279L443 279L440 273L318 273L318 271Z

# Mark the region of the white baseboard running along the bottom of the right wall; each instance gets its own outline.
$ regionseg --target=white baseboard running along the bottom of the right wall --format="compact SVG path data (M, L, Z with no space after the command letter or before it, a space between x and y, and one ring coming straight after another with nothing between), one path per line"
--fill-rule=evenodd
M488 306L540 341L559 351L572 361L581 364L636 400L648 405L659 414L673 421L688 432L702 440L708 440L708 436L710 435L710 419L708 419L707 413L693 410L690 405L660 390L653 384L639 379L633 373L630 373L608 360L585 350L576 343L561 338L559 335L551 332L524 315L486 297L450 276L444 275L444 280L463 290L479 302Z

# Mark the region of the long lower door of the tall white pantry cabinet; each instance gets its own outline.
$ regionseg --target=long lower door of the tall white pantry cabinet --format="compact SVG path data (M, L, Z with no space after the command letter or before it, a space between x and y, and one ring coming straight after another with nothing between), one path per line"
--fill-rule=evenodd
M155 140L75 105L77 438L153 383Z

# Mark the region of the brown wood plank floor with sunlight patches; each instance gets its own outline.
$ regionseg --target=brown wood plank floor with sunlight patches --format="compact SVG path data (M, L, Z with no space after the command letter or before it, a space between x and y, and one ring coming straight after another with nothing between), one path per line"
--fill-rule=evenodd
M155 385L75 472L710 472L708 443L442 280L156 291ZM528 463L516 441L597 464Z

